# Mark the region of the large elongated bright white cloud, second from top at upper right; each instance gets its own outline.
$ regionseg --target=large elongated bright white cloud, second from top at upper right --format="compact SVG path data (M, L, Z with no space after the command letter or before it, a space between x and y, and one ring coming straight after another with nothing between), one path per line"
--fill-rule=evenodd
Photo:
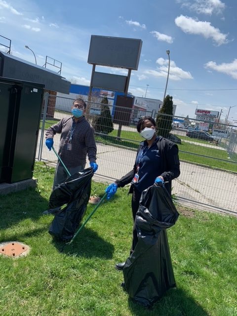
M205 39L212 39L219 46L226 44L228 34L223 34L219 29L214 28L210 22L196 21L191 17L180 15L175 19L175 24L181 28L184 33L201 35Z

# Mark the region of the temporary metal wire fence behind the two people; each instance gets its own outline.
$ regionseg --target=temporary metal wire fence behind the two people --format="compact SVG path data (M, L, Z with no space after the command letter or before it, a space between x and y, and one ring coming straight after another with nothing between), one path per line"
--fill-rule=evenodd
M57 163L55 154L44 145L45 130L63 117L71 116L73 101L45 93L38 160ZM156 119L157 114L124 107L114 109L112 105L100 102L101 99L87 101L85 116L95 129L99 168L94 179L111 183L133 168L136 150L143 141L136 130L138 119L152 115ZM181 174L172 182L172 193L178 201L198 209L237 214L236 127L194 118L161 116L159 129L179 147ZM59 141L57 134L54 136L56 150Z

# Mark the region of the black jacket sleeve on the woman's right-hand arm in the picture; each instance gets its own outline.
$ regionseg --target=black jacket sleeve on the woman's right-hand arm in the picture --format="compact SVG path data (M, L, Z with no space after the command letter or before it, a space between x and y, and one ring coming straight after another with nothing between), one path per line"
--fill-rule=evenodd
M180 175L179 149L172 142L166 142L165 149L165 171L160 174L164 181L171 181Z

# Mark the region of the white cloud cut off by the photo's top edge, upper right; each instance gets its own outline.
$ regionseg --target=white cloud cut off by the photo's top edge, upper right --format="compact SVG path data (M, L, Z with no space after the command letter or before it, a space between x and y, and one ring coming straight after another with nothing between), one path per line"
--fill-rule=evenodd
M188 7L191 11L200 14L219 14L225 9L225 3L221 0L193 0L192 3L187 0L178 0L177 2L182 3L182 6Z

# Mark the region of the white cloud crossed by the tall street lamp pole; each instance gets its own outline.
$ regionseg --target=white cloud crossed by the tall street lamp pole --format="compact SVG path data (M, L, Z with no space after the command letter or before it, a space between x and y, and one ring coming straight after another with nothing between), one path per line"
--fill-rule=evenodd
M167 78L168 73L168 59L158 58L157 64L159 65L158 70L145 70L144 74L151 75L154 77ZM183 69L176 66L174 61L170 61L169 69L170 80L181 80L181 79L193 79L190 72L184 71Z

